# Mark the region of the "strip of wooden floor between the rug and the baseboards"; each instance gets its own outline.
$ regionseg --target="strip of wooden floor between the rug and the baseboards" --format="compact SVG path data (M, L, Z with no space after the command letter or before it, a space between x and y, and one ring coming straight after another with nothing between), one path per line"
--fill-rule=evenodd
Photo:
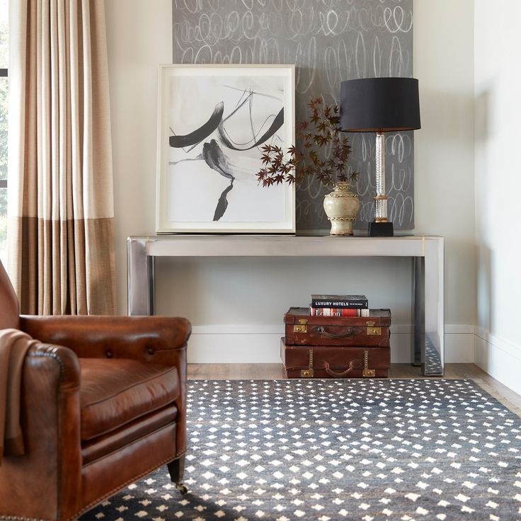
M419 367L409 364L391 364L390 378L425 378ZM281 364L188 364L189 379L211 380L273 380L283 379ZM438 378L438 377L427 377ZM521 416L521 396L474 364L445 364L445 376L439 378L469 378Z

